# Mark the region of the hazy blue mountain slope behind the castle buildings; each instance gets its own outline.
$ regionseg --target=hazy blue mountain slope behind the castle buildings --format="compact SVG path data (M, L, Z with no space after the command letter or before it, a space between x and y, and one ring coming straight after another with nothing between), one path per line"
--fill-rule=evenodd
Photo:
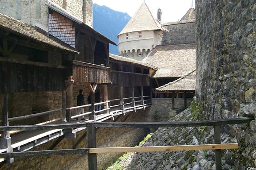
M106 6L93 4L93 28L118 43L117 35L122 31L131 17ZM110 53L118 55L118 46L110 44Z

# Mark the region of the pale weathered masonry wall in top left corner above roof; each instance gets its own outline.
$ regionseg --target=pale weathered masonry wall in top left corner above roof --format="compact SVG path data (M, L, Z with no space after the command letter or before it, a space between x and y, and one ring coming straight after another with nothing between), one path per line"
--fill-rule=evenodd
M47 0L0 0L0 13L48 31Z

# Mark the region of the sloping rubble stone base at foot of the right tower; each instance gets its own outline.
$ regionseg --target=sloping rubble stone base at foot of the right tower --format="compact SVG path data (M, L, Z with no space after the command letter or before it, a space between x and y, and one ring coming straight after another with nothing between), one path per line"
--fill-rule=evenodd
M202 120L196 104L171 121ZM239 150L222 150L223 170L256 170L256 152L246 146L248 125L222 127L222 143L239 143ZM212 144L213 127L159 128L142 146ZM236 135L242 137L236 139ZM215 170L214 151L129 153L108 170Z

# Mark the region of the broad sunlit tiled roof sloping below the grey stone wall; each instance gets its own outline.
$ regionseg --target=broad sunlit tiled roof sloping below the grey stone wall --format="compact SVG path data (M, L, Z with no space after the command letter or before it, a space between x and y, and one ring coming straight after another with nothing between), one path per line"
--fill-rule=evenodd
M159 68L153 78L182 77L196 69L196 45L156 46L143 62Z

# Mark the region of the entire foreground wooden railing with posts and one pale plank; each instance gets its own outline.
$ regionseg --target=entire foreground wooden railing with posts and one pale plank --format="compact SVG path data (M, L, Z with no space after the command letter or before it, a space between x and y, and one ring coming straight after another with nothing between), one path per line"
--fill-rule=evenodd
M216 150L215 163L216 170L221 170L221 149L237 149L237 143L220 144L220 127L227 124L247 124L254 120L252 117L242 117L224 120L206 120L206 121L189 121L189 122L138 122L138 123L121 123L121 122L91 122L80 124L49 124L49 125L23 125L23 126L0 126L0 131L11 130L50 130L58 128L81 128L87 127L88 148L84 149L66 149L52 151L27 151L1 153L0 158L13 158L25 156L49 156L49 155L72 155L88 154L89 170L97 170L96 153L113 153L113 152L151 152L151 151L188 151L188 150ZM119 147L119 148L96 148L96 127L104 128L160 128L160 127L200 127L213 126L215 144L209 145L186 145L186 146L154 146L154 147ZM90 147L94 146L94 147Z

